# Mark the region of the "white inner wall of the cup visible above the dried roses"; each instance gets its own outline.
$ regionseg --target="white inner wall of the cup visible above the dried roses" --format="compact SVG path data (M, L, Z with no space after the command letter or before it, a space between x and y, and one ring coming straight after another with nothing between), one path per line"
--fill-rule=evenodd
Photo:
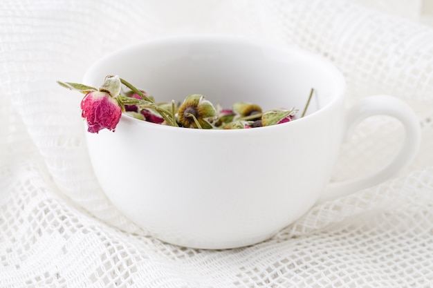
M107 75L119 75L157 102L181 102L187 95L202 94L223 108L253 102L264 110L301 111L313 88L307 114L329 105L344 90L341 73L322 57L230 37L145 41L102 58L83 82L98 87Z

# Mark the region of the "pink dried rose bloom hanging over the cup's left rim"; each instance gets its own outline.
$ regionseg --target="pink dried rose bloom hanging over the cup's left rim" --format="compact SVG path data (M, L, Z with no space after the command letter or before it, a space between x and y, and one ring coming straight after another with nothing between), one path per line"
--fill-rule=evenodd
M102 91L87 93L81 101L81 109L90 133L98 133L103 128L114 131L122 115L118 101Z

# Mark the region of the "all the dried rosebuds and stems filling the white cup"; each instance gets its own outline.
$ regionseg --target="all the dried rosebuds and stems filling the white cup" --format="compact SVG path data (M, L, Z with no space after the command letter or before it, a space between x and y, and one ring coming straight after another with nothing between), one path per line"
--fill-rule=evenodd
M57 83L77 90L85 96L81 102L82 117L90 133L107 128L115 131L120 116L125 113L142 121L155 124L199 129L245 129L270 126L296 119L298 110L271 109L263 111L254 103L236 102L231 108L214 106L205 96L191 94L182 103L156 102L148 95L118 76L107 76L100 88L70 82ZM125 91L126 90L126 91ZM302 117L313 95L306 102Z

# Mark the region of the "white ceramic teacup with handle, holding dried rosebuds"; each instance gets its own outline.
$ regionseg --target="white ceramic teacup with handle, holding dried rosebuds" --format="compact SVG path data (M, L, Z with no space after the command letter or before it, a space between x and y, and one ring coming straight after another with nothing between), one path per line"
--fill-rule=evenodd
M182 246L225 249L266 240L318 201L383 182L412 160L420 142L405 103L378 95L347 109L338 69L297 48L230 37L154 39L104 57L84 84L98 87L107 75L158 102L196 93L225 108L243 101L302 110L315 89L306 117L275 126L199 130L122 115L116 132L86 133L111 202L156 238ZM329 184L340 144L371 115L403 124L400 151L373 175Z

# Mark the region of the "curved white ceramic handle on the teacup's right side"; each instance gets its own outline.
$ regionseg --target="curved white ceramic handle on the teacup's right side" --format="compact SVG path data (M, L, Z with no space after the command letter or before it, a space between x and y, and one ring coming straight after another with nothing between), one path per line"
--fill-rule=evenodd
M318 202L340 198L379 184L395 175L414 158L421 142L421 125L412 108L396 97L388 95L371 96L360 100L349 108L346 115L344 140L347 140L352 135L356 126L363 119L374 115L389 115L403 124L405 140L403 140L400 151L394 155L394 158L387 165L370 175L356 180L330 183L320 195Z

